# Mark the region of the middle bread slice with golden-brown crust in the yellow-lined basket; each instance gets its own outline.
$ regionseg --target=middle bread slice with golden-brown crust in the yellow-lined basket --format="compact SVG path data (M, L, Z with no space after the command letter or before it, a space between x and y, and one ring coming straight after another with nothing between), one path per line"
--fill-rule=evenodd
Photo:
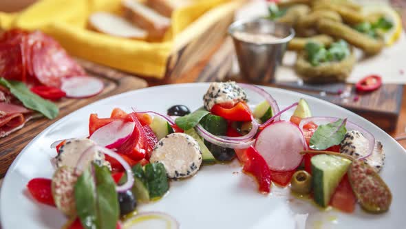
M123 0L125 17L148 31L149 38L160 39L171 26L171 19L164 17L137 0Z

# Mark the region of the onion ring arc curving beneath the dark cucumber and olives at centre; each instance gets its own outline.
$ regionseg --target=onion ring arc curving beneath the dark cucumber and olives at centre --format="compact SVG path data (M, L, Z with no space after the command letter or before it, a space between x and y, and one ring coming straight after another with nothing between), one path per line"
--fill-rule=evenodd
M245 149L250 147L255 142L255 139L249 141L226 140L223 139L222 137L211 134L209 131L205 130L200 124L197 124L197 126L195 126L195 130L197 134L203 137L206 141L209 141L210 143L213 143L217 146L222 146L224 148Z

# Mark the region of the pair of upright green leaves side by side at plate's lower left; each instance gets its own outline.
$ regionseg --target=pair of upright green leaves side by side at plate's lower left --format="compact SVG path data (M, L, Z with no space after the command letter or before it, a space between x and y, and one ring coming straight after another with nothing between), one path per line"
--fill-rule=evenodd
M74 195L84 228L116 228L119 217L116 184L106 166L93 163L85 169L74 186Z

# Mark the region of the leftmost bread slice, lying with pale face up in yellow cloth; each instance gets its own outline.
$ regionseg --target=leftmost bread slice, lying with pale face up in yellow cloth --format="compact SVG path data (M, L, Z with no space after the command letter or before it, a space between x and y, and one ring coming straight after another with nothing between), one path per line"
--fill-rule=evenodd
M148 32L133 23L108 12L95 12L89 17L89 25L98 32L115 37L147 39Z

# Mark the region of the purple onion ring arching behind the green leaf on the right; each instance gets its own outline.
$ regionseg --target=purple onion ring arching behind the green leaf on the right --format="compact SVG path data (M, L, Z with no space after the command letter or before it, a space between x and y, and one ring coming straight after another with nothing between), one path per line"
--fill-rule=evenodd
M339 118L336 118L336 117L310 117L307 119L301 119L301 121L299 123L299 128L303 131L303 126L306 125L307 123L310 123L310 121L313 121L314 123L316 123L316 122L332 123L337 120L339 120ZM360 157L359 159L365 159L367 157L370 157L372 155L372 152L374 152L374 147L375 147L374 135L372 135L370 132L368 132L361 126L358 126L355 123L348 121L348 120L347 120L345 127L348 128L349 130L358 130L368 140L368 154L365 155L364 157Z

